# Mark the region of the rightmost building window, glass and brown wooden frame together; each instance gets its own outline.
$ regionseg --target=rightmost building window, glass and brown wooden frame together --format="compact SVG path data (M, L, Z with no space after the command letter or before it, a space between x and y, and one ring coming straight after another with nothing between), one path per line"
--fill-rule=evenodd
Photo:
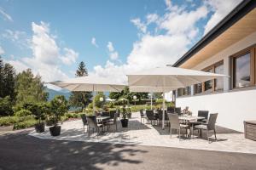
M231 88L255 86L256 59L255 45L231 56Z

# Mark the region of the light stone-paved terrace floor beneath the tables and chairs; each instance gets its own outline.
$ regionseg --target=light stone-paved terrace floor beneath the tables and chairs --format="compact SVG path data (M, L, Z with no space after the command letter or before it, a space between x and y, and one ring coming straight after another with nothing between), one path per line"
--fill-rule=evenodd
M184 132L183 132L184 133ZM160 126L152 126L150 123L141 123L138 113L133 113L129 120L129 127L122 128L119 122L118 132L104 133L96 136L96 133L88 137L85 129L83 133L83 123L81 120L64 122L61 125L61 135L52 137L48 128L44 133L32 132L29 135L39 139L56 139L69 141L84 141L93 143L110 143L110 144L137 144L147 146L164 146L183 149L195 150L216 150L228 152L241 152L256 154L256 142L245 139L243 133L224 127L217 127L217 141L212 136L211 143L207 142L206 133L203 133L203 139L198 138L195 131L194 139L178 139L177 134L170 138L168 130L162 130Z

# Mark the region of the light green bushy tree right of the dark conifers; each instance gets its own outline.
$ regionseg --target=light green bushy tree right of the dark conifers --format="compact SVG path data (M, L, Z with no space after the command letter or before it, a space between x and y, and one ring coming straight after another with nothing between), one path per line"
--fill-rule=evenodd
M44 89L44 83L41 81L40 76L34 77L30 69L22 71L16 77L16 103L46 101L48 93Z

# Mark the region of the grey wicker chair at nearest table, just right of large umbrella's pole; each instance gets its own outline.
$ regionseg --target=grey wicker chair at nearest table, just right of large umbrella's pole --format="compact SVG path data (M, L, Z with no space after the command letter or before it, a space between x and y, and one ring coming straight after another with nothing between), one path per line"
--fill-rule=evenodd
M180 130L181 130L181 128L185 128L186 129L186 135L188 137L189 125L180 124L179 120L178 120L178 115L177 114L168 113L168 117L169 117L169 122L170 122L170 127L169 127L170 138L172 138L172 129L176 129L178 131L178 139L180 139Z

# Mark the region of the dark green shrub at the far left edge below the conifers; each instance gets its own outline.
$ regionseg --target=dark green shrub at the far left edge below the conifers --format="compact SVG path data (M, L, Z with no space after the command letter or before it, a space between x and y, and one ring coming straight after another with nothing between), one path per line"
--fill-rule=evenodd
M13 114L14 111L10 97L0 98L0 116L12 116Z

